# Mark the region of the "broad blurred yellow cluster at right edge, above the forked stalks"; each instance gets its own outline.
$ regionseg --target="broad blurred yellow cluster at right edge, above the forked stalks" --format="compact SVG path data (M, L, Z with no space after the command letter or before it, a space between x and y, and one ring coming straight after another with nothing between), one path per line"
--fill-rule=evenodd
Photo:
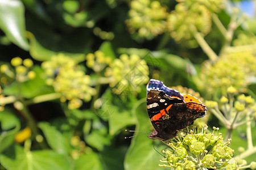
M233 86L238 92L246 92L251 78L256 76L256 60L252 52L226 53L211 63L205 61L202 65L201 80L207 80L199 86L212 95L220 92L226 95L228 87Z

